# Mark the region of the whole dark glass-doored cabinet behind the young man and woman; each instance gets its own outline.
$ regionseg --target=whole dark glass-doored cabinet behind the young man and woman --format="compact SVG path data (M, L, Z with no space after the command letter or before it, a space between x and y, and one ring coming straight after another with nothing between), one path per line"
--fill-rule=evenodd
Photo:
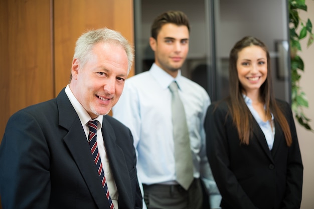
M190 50L182 74L202 85L212 101L228 95L231 48L253 35L270 51L275 96L290 102L286 0L134 0L135 73L150 68L150 26L167 10L182 10L189 17Z

